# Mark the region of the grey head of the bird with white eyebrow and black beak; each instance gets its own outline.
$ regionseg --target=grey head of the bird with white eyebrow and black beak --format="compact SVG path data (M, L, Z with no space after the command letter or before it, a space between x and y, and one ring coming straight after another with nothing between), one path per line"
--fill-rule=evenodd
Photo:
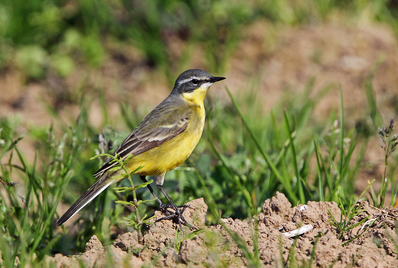
M224 77L213 77L209 73L199 69L187 70L177 78L172 93L181 94L192 92L199 88L208 89L214 82L224 79Z

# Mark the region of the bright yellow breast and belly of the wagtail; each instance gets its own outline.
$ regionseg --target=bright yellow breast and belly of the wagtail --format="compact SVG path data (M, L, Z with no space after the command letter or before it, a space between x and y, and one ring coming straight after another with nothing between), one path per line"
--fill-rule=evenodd
M164 174L180 166L194 151L203 132L204 108L198 107L198 116L192 118L187 129L159 147L137 155L129 161L130 171L142 167L136 173L141 176Z

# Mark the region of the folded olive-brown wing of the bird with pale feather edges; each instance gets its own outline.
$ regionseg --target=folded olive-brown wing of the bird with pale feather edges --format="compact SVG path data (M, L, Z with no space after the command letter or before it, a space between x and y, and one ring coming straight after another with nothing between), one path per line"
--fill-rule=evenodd
M191 112L180 113L179 109L167 107L167 104L162 109L159 109L160 104L152 110L120 144L114 155L117 155L122 160L126 159L129 155L134 157L160 146L183 133L187 129ZM159 116L160 113L161 116ZM115 165L115 162L106 162L94 176L101 176L105 171Z

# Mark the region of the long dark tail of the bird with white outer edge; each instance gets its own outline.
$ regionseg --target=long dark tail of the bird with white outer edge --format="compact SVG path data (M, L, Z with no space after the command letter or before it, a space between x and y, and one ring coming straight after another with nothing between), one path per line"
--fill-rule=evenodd
M91 200L93 200L97 195L99 195L106 187L116 181L116 179L111 178L108 173L102 175L93 185L79 197L78 200L61 216L55 223L56 226L60 226L72 218L76 213L78 213L84 206L86 206Z

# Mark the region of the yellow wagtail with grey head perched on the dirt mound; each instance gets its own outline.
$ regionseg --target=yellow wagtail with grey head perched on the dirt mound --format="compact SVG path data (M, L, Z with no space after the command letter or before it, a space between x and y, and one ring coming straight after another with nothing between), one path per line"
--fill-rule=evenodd
M156 176L156 185L171 205L164 204L151 185L148 188L157 198L160 209L173 208L176 212L165 217L178 217L188 224L182 213L163 189L166 172L180 166L194 151L204 126L203 100L209 87L223 77L213 77L205 71L192 69L176 80L170 95L154 108L133 132L121 143L114 155L127 161L126 168L146 182L146 176ZM109 171L116 163L108 161L95 174L97 181L56 222L60 226L99 195L110 184L119 181L119 171ZM141 168L140 168L141 167ZM170 214L170 211L168 211Z

